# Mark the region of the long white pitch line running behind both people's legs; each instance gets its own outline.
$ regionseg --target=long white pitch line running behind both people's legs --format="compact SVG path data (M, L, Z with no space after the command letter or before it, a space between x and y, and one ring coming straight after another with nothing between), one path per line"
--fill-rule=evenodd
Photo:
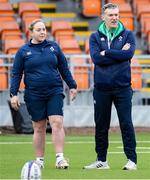
M93 144L94 141L66 141L65 144ZM110 144L121 144L122 141L110 141ZM137 141L137 143L150 144L150 141ZM32 142L0 142L0 144L32 144ZM52 142L46 142L46 144L52 144Z

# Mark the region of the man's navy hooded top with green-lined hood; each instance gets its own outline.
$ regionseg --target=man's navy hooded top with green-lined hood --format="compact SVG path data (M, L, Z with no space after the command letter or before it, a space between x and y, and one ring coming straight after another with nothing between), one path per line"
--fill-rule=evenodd
M130 61L135 51L135 37L133 33L119 23L120 29L109 42L104 31L104 22L99 30L90 36L90 55L95 65L94 86L98 89L123 88L131 85ZM122 50L129 43L128 50ZM105 55L100 52L105 50Z

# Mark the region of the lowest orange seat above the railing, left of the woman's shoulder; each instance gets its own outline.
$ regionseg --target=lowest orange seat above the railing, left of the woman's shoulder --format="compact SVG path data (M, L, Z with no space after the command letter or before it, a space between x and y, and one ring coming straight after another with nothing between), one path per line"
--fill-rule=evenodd
M7 40L4 42L4 52L7 54L15 54L23 44L23 39Z

